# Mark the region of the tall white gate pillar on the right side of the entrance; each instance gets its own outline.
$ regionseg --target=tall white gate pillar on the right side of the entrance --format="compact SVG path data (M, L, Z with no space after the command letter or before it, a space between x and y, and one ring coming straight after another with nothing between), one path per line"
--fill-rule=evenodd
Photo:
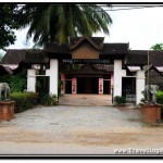
M114 60L113 96L122 96L122 77L126 76L126 70L122 70L122 60Z

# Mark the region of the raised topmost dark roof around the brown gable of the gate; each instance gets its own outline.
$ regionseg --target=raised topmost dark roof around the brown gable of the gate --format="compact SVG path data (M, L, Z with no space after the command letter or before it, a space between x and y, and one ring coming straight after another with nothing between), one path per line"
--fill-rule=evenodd
M70 37L70 49L75 49L85 40L98 50L103 48L104 37L88 37L87 35L84 35L83 37Z

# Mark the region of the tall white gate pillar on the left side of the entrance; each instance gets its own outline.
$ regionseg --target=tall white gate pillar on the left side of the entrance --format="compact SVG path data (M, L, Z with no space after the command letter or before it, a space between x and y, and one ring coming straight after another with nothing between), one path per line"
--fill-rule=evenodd
M58 97L59 61L57 59L50 60L50 70L46 71L46 76L50 76L49 93Z

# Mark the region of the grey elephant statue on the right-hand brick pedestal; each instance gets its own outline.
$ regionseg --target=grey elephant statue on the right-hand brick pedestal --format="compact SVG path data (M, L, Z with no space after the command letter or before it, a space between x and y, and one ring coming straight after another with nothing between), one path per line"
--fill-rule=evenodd
M159 86L156 85L147 85L145 88L145 98L149 103L156 103L156 91L159 90Z

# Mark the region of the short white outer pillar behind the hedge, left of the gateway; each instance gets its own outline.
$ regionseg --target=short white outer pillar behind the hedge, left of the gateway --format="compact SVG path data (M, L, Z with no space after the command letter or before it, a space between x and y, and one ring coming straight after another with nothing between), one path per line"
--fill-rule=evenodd
M27 91L36 91L36 70L27 70Z

